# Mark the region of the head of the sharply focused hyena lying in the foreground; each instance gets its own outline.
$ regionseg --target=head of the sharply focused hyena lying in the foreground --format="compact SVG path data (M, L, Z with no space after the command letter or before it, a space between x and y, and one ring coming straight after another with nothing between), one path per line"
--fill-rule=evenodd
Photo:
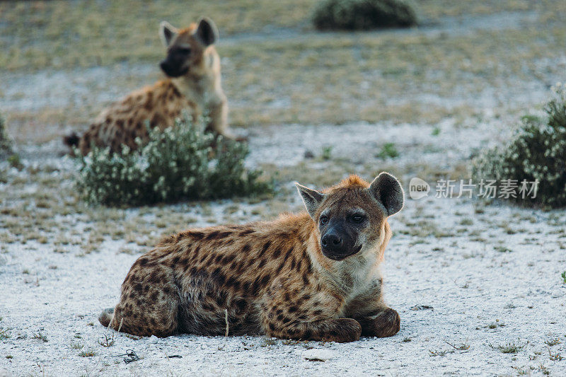
M383 223L403 207L403 189L387 173L381 173L371 185L360 180L326 193L298 187L320 233L320 250L332 260L373 250L381 239Z

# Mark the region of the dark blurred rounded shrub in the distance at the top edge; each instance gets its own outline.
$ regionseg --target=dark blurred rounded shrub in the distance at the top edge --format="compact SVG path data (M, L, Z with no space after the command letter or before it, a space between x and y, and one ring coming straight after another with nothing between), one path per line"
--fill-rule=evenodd
M417 24L412 6L405 0L322 0L313 24L320 30L370 30Z

